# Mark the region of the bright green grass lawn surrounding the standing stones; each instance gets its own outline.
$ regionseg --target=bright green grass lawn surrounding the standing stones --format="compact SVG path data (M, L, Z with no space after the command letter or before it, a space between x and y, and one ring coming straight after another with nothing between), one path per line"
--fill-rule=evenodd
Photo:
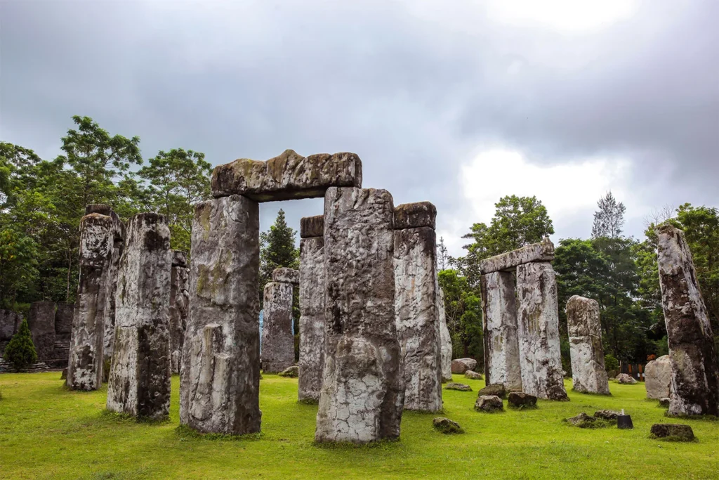
M571 402L498 413L472 408L473 392L444 391L444 415L466 433L433 430L436 415L405 412L398 442L313 444L316 406L298 404L297 380L265 375L262 434L241 440L178 431L178 377L170 422L136 423L104 413L106 390L67 391L60 373L0 375L0 478L48 479L710 479L719 478L719 422L689 422L692 443L649 438L664 409L643 384L610 385L613 396L570 392ZM567 382L567 389L571 382ZM621 409L634 430L582 430L562 422L579 412Z

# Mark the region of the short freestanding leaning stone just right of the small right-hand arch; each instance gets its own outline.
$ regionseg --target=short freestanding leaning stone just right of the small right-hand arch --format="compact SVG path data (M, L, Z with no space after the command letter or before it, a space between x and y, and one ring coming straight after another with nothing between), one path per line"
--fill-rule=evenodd
M574 390L609 395L609 380L604 369L599 303L574 295L567 301L565 311Z

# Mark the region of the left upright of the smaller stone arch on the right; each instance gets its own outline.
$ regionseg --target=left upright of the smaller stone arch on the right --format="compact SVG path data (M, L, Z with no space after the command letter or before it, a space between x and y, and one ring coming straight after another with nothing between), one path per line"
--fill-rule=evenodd
M517 336L517 302L514 275L492 272L482 275L482 312L487 384L522 389Z

